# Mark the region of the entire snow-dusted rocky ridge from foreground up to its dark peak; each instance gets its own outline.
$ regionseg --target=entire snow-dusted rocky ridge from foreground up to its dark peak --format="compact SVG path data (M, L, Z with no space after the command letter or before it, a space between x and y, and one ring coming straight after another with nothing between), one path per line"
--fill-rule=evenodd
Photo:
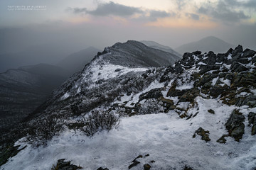
M136 41L99 52L14 128L23 149L1 169L256 169L256 52L187 52L169 66L154 52Z

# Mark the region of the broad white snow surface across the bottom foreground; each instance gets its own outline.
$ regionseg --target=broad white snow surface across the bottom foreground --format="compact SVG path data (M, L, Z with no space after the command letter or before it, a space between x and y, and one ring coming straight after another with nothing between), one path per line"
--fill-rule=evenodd
M83 169L103 168L119 170L128 169L139 154L149 157L137 159L140 164L132 170L143 169L150 164L151 169L183 169L185 165L193 169L248 169L256 167L256 136L250 135L247 126L247 115L256 108L241 107L245 115L245 134L240 142L231 137L226 144L216 142L225 130L225 122L235 106L226 106L218 99L197 97L198 106L188 113L196 117L181 119L174 111L153 115L136 115L122 118L117 127L110 132L98 132L87 137L81 132L65 130L48 142L46 147L34 149L29 146L23 149L9 162L1 166L1 170L50 169L58 159L66 159ZM215 114L208 113L213 109ZM210 131L210 142L193 138L199 127ZM16 145L26 145L17 142ZM154 160L154 163L150 161Z

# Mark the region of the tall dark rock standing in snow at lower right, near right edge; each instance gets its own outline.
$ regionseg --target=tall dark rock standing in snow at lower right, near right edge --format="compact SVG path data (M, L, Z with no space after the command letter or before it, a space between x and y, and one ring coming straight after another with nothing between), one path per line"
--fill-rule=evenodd
M236 141L239 142L242 139L242 135L245 132L245 116L239 112L239 110L234 110L227 123L225 123L225 127L228 130L228 134L230 137L233 137Z

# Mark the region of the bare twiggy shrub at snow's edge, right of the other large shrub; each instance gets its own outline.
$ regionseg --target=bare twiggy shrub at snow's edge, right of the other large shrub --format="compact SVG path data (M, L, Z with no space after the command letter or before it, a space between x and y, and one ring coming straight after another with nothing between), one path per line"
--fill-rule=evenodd
M107 111L92 111L92 114L84 118L85 126L81 129L87 136L92 136L102 130L111 130L119 124L119 115Z

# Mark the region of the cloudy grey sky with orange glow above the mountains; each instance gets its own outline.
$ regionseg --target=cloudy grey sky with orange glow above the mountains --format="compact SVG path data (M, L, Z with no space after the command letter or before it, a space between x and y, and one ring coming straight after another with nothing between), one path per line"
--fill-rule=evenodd
M255 0L1 0L0 16L6 52L11 44L69 42L75 51L127 40L175 48L209 35L256 49Z

